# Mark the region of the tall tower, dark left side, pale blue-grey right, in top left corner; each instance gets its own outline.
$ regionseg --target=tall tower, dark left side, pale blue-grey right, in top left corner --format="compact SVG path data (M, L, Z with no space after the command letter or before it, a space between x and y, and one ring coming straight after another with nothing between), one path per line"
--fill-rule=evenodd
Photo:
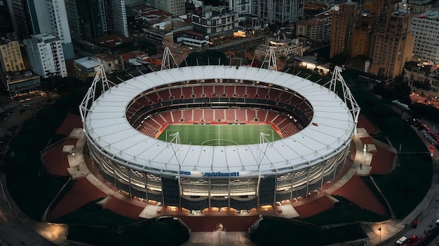
M60 37L65 59L74 57L65 0L8 0L19 38L36 34Z

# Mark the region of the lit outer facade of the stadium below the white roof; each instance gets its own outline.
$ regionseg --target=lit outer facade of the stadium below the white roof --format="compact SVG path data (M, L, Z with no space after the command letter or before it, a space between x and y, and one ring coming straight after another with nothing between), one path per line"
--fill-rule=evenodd
M349 145L347 145L349 146ZM131 198L161 202L180 210L270 209L277 201L306 198L335 182L344 168L349 147L311 167L261 177L190 177L156 175L135 170L89 146L102 176Z

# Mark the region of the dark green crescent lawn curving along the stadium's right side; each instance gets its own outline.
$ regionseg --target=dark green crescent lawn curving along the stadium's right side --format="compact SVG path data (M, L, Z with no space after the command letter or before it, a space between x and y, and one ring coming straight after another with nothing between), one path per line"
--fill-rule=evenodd
M362 107L361 113L381 129L378 136L386 136L391 145L400 150L398 164L392 173L372 177L396 217L403 218L421 202L430 188L433 166L428 149L412 126L388 104L368 92L357 89L353 92Z

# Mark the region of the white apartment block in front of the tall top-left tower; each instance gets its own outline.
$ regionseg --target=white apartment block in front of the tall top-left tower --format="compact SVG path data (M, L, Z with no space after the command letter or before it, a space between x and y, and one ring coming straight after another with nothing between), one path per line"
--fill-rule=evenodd
M23 40L29 59L29 65L43 78L67 76L61 39L52 34L37 34Z

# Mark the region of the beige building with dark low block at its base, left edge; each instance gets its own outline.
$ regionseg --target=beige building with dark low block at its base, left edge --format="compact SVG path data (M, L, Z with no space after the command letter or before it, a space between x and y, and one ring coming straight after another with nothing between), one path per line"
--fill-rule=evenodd
M0 40L1 82L9 96L41 89L39 75L25 67L20 44L17 41Z

